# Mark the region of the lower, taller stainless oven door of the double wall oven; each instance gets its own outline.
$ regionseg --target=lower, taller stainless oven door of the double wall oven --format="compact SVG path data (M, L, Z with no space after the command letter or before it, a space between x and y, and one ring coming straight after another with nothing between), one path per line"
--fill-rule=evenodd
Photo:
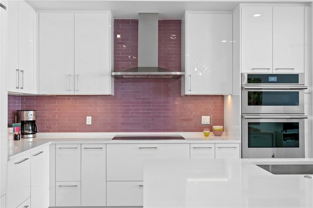
M294 114L243 114L242 158L304 158L304 119Z

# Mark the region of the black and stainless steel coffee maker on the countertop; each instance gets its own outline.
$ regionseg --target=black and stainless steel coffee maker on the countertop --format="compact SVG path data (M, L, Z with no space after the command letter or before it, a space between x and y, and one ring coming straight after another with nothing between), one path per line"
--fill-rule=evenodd
M17 122L21 123L21 137L34 138L38 133L36 110L18 110Z

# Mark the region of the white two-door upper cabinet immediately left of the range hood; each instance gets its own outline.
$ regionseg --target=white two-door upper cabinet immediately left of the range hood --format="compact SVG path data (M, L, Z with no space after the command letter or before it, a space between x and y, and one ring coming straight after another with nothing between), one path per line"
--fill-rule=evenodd
M39 14L39 93L112 94L112 15Z

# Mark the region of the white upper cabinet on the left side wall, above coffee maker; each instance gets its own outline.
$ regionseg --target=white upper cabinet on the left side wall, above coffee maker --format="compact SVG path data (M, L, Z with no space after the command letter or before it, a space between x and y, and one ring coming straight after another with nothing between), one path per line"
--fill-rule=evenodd
M23 0L8 1L7 90L35 93L34 10Z

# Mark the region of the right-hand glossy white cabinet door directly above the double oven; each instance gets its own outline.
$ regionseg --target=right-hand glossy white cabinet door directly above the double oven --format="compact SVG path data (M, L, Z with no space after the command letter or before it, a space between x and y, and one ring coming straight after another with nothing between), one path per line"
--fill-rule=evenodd
M304 7L273 7L273 72L304 73Z

